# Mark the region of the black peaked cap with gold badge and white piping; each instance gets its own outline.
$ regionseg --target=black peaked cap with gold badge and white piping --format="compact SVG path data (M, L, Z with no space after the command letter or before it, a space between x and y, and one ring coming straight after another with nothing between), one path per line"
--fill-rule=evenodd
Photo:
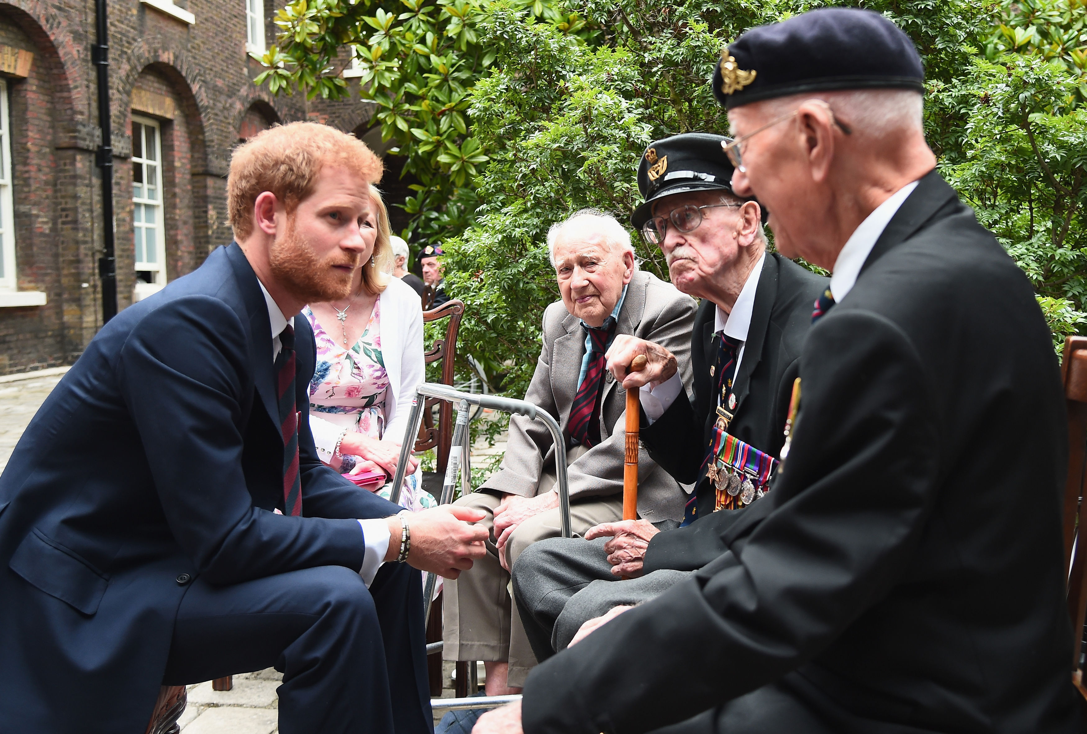
M722 148L723 142L732 142L732 138L710 133L684 133L657 140L646 148L638 164L638 190L644 201L630 214L634 228L641 229L652 215L653 202L663 197L709 189L730 192L733 164ZM765 217L763 212L763 222Z

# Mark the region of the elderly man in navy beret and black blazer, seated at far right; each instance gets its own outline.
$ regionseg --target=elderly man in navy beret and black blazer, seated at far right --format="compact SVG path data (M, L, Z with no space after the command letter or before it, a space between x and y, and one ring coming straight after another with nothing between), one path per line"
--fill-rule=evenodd
M819 10L746 33L713 85L734 190L833 272L785 461L721 557L477 734L1083 731L1057 360L1029 282L935 171L916 50Z

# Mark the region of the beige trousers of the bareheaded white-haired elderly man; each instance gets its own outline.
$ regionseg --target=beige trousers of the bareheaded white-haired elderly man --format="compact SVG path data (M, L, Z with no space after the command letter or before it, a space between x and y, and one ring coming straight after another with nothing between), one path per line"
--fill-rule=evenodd
M474 492L455 502L486 512L487 517L477 524L490 530L491 534L486 543L487 555L455 581L445 582L446 645L442 657L446 660L508 660L509 685L521 687L528 671L536 667L536 658L525 638L520 618L511 615L510 574L498 561L493 523L495 508L500 502L500 498L483 492ZM571 502L571 527L576 535L584 535L599 523L622 518L622 497L592 497ZM557 537L560 532L558 508L521 523L505 545L510 567L525 548L544 538Z

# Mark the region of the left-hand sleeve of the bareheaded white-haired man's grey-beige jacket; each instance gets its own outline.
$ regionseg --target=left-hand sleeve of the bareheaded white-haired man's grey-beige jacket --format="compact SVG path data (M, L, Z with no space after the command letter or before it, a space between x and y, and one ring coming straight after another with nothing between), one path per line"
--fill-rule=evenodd
M540 338L542 347L536 361L533 381L528 385L528 391L525 393L525 400L546 410L558 421L559 407L551 391L551 341L548 339L547 324L550 311L552 309L544 312L544 332ZM502 457L501 466L479 488L535 497L539 487L540 472L544 469L544 457L550 450L551 444L551 433L542 422L526 415L511 415L505 456Z

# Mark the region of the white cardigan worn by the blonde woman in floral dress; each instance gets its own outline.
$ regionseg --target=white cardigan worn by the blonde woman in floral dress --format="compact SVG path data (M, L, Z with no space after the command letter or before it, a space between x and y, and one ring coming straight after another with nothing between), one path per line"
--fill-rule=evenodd
M382 359L389 375L385 395L385 433L383 440L403 443L408 430L408 407L415 396L415 386L425 380L423 359L423 306L411 286L390 276L387 288L378 296L382 304ZM343 426L310 413L310 430L318 456L328 461Z

